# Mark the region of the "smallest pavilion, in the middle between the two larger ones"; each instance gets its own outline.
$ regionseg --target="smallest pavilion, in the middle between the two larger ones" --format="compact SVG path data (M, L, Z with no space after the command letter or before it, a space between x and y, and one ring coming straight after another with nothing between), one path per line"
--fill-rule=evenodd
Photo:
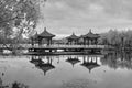
M79 37L77 35L75 35L75 33L73 33L70 36L68 36L66 38L67 38L69 45L78 44Z

